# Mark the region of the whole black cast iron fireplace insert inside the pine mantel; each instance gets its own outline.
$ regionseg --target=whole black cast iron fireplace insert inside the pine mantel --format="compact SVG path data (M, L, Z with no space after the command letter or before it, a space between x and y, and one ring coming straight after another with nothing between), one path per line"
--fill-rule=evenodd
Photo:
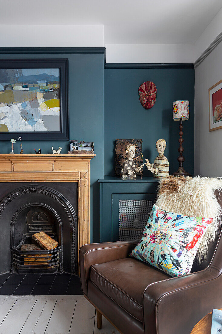
M76 182L0 183L0 274L9 270L19 273L58 270L76 274L76 212ZM51 258L51 264L57 263L54 269L47 266L42 269L31 266L31 269L23 265L18 255L21 244L30 243L32 234L40 230L59 242Z

